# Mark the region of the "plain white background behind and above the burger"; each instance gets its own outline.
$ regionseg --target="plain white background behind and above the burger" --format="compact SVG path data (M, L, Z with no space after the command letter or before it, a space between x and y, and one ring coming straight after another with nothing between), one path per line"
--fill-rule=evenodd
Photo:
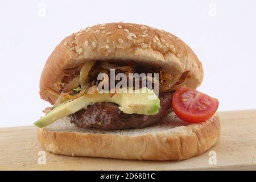
M1 1L0 127L32 125L45 61L72 32L107 22L143 23L184 40L203 63L199 90L218 110L256 108L256 1Z

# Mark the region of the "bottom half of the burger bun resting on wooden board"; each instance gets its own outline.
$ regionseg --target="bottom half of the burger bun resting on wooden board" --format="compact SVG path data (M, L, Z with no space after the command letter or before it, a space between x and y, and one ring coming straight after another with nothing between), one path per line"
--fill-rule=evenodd
M38 139L54 154L137 160L183 160L212 147L220 137L214 114L203 123L189 124L169 114L144 129L100 131L81 129L62 118L38 130Z

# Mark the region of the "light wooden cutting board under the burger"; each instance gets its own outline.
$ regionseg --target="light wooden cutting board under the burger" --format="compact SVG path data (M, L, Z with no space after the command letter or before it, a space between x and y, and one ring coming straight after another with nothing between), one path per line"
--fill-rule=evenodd
M225 111L220 141L203 155L188 160L150 162L82 158L51 154L38 164L44 148L36 139L35 126L0 129L0 170L256 170L256 110Z

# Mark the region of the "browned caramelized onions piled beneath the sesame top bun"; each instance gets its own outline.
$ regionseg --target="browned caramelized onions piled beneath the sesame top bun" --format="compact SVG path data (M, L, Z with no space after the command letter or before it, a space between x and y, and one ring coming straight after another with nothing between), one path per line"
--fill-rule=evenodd
M136 64L118 65L108 62L100 62L96 64L96 61L87 61L84 65L80 65L79 67L64 69L64 72L68 76L64 76L61 80L61 84L56 85L56 90L61 89L61 87L63 88L61 89L62 93L60 94L55 90L48 89L47 93L51 96L49 99L56 101L56 106L67 100L79 98L84 94L98 93L97 83L99 81L97 81L97 76L99 73L106 73L109 75L110 69L117 69L117 72L115 73L122 72L125 73L127 77L129 76L129 73L134 73L135 71L138 73L160 73L158 82L159 92L172 91L172 89L175 88L174 86L182 84L186 78L190 77L188 74L189 71L185 71L181 76L175 76L171 73L167 73L163 68L160 70L158 69L158 71L154 71L151 67L143 67ZM154 77L151 77L151 81L152 84L154 84L156 80ZM79 86L81 86L81 92L74 92L73 89L76 89ZM110 93L110 97L113 96L114 94Z

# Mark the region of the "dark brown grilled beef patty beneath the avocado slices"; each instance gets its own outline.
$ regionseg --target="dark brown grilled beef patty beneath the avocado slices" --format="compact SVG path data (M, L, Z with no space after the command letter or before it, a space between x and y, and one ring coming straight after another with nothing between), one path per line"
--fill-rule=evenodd
M77 111L69 115L71 123L77 127L94 127L100 130L122 130L143 128L150 126L172 111L173 92L159 94L160 109L158 114L125 114L112 102L99 103L88 106L86 110Z

